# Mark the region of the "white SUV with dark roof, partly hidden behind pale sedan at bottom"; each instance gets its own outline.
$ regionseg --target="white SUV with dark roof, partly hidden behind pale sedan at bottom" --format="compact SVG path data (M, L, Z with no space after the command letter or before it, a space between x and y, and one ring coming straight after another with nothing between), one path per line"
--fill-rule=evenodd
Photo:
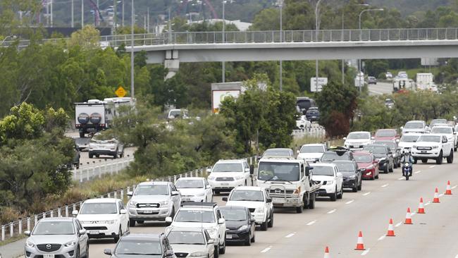
M226 228L225 219L216 202L185 202L181 204L175 218L167 217L171 226L166 228L167 233L172 228L204 228L215 245L215 257L225 253Z

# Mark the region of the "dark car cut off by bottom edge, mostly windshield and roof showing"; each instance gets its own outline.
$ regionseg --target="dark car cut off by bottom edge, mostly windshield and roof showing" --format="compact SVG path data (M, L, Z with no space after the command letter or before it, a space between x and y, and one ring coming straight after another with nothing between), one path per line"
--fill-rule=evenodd
M105 249L104 254L110 255L111 258L175 257L172 247L163 233L124 235L116 244L114 251Z

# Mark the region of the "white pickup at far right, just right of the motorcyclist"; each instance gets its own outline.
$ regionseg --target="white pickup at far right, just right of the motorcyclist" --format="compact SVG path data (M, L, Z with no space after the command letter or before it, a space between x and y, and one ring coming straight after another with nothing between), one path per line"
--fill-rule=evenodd
M423 163L435 159L435 164L442 164L443 158L447 158L447 163L453 163L453 142L449 142L445 135L421 135L411 153L415 163L419 159Z

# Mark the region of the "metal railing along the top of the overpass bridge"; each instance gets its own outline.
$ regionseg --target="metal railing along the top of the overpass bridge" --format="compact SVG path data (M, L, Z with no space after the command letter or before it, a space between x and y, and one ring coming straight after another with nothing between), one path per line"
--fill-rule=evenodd
M224 37L223 37L224 35ZM100 37L101 47L131 45L132 35L111 35ZM442 28L397 28L370 30L268 30L268 31L227 31L227 32L164 32L161 34L135 34L135 46L161 44L221 44L221 43L272 43L272 42L368 42L392 40L453 40L458 39L457 27ZM63 39L43 39L40 42L58 42ZM15 44L6 41L4 47ZM28 40L19 40L18 47L27 47Z

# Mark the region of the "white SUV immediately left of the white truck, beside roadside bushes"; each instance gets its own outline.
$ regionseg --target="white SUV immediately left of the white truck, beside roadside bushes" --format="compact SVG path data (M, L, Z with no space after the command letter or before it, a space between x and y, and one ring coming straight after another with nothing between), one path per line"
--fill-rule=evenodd
M248 163L245 159L221 159L211 168L208 180L211 189L216 194L224 190L233 190L237 186L247 185L249 180Z

